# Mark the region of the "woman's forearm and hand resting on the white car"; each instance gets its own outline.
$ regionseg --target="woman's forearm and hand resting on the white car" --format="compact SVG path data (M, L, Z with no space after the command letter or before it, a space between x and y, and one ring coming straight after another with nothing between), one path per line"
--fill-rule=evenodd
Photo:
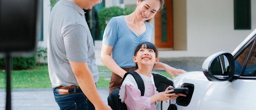
M173 68L167 64L164 64L162 62L158 62L157 64L155 64L153 69L157 69L157 70L165 70L169 75L171 75L172 78L174 78L174 75L179 75L178 73L186 73L186 71L182 70L182 69L176 69Z

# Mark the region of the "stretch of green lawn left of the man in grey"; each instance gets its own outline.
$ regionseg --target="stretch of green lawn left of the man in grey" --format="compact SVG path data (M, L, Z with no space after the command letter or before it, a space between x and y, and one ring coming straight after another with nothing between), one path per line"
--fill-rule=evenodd
M6 88L4 70L0 70L0 88ZM11 71L11 88L51 88L47 65Z

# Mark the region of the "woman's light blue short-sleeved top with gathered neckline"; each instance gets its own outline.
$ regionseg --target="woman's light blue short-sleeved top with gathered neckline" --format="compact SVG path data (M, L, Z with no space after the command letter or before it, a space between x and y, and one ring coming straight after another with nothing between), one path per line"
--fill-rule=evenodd
M135 66L132 61L136 46L140 42L150 42L153 32L153 25L146 23L146 31L137 36L127 26L124 16L117 16L110 19L103 34L103 44L114 46L112 57L118 66L130 68Z

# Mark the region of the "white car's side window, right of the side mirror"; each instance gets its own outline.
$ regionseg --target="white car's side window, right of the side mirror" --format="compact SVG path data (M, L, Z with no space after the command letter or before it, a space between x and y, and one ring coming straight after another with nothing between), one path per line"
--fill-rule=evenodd
M256 46L255 40L235 60L235 75L256 76Z

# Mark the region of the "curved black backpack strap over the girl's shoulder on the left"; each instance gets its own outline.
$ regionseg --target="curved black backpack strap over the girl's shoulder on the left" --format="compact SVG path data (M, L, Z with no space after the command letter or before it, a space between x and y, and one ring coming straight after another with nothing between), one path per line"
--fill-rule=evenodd
M144 86L144 82L143 82L142 78L140 77L140 75L135 71L127 72L124 74L123 81L128 74L131 74L133 76L133 78L135 79L137 86L140 90L141 96L144 96L145 86ZM122 81L122 83L123 83L123 81Z

